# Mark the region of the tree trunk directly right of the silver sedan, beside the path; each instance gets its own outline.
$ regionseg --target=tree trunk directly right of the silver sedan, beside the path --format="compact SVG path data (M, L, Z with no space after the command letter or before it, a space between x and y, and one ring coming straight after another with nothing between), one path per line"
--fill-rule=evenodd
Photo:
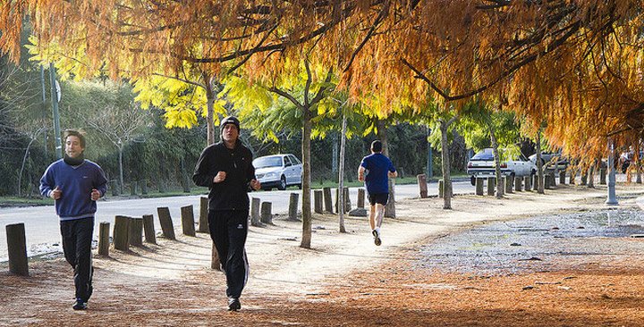
M302 114L302 240L300 247L310 248L310 135L311 122L307 108Z

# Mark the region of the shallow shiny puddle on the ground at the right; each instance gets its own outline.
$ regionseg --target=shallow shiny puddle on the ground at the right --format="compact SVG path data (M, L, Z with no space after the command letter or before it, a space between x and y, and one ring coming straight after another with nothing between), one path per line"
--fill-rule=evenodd
M508 222L488 222L420 248L419 268L513 274L554 268L557 259L644 253L644 212L605 209ZM638 251L638 252L633 252Z

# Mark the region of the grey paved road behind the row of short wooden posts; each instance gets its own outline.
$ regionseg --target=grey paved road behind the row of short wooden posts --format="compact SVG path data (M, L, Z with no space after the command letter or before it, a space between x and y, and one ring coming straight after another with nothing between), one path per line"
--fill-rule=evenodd
M396 198L419 197L418 185L397 185L395 187ZM470 186L469 181L456 181L453 184L455 194L472 193L474 188ZM429 195L437 194L436 181L428 184ZM287 214L289 195L292 192L299 192L297 189L284 191L262 191L251 193L251 197L259 197L262 201L273 203L274 214ZM355 201L358 194L358 188L350 189L352 202ZM193 205L195 220L199 220L199 197L155 197L139 198L129 200L106 200L98 201L98 211L96 218L95 239L97 239L98 222L110 222L114 226L114 216L129 215L142 216L143 214L155 215L155 229L161 230L157 220L157 207L167 206L173 217L174 227L181 226L180 210L184 205ZM52 205L30 206L21 208L0 208L0 226L7 224L24 222L27 238L27 251L29 256L47 253L49 251L59 250L60 247L52 247L52 244L60 242L60 230L58 217ZM6 232L0 232L0 262L7 260L7 242Z

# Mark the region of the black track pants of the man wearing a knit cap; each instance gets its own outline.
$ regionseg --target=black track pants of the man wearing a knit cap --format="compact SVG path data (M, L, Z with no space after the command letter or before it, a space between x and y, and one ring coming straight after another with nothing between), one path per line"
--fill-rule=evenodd
M208 210L210 237L226 275L226 296L239 298L248 281L248 259L244 246L248 235L248 210Z

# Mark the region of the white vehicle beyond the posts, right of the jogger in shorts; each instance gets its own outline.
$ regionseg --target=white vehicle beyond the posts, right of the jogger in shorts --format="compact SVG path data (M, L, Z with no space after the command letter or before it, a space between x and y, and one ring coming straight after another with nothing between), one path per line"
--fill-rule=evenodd
M501 154L499 150L499 154ZM503 155L502 155L503 157ZM468 162L468 175L474 185L477 178L496 177L494 153L492 148L485 148L472 156ZM520 155L519 160L507 160L501 163L501 173L509 176L528 176L537 173L537 166Z

